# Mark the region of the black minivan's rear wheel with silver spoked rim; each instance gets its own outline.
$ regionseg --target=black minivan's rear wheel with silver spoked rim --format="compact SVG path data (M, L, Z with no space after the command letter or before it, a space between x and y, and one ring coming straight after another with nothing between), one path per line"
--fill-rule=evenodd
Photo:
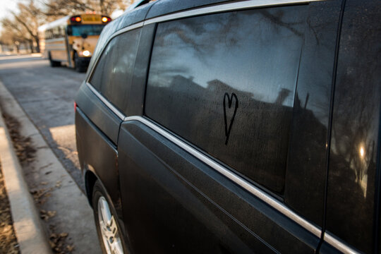
M106 192L97 180L92 191L92 211L102 252L107 254L128 253L121 226L110 204Z

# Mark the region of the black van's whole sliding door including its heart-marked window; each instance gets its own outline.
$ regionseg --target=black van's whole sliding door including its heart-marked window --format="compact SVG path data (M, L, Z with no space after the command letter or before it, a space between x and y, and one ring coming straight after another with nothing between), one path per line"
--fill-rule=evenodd
M121 124L118 147L135 253L317 250L341 1L254 7L145 21L136 83L147 82L145 100ZM310 157L289 158L308 147ZM302 177L308 170L319 177Z

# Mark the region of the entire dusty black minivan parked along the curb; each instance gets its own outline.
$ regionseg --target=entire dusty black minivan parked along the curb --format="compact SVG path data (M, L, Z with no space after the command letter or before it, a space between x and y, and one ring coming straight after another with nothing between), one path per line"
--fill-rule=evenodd
M381 253L381 1L158 0L75 99L104 253Z

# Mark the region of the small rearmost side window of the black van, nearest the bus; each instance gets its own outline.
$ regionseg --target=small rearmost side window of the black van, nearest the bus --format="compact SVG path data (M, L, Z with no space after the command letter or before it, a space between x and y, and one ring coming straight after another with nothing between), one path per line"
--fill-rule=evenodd
M114 37L100 56L90 84L119 110L127 107L140 29Z

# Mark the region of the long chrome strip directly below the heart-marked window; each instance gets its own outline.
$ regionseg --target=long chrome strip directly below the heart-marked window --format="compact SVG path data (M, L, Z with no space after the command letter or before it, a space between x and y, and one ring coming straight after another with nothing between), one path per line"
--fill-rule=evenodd
M163 128L160 128L155 123L152 123L151 121L148 121L147 119L143 118L142 116L127 116L123 121L139 121L140 123L143 123L145 126L148 126L152 130L156 131L160 135L164 136L164 138L167 138L172 143L175 143L179 147L181 147L183 150L186 150L186 152L189 152L194 157L200 159L200 161L204 162L208 166L212 167L212 169L218 171L220 174L225 176L226 178L230 179L234 183L238 184L238 186L241 186L249 193L255 195L257 198L262 200L263 202L266 202L268 205L273 207L278 212L281 212L289 219L292 219L294 222L299 224L300 226L303 226L304 229L310 231L310 233L314 234L318 238L320 238L322 231L317 228L317 226L314 226L310 222L307 222L306 219L303 219L295 212L291 211L288 207L286 207L282 202L279 202L275 198L272 198L272 196L268 195L264 191L260 190L260 188L255 187L253 184L249 183L245 179L243 179L241 176L238 176L234 174L229 169L226 169L222 167L217 162L214 162L214 160L210 159L209 157L203 155L198 150L195 150L195 148L191 147L191 145L188 145L187 143L183 142L179 138L176 138L171 133L164 131Z

